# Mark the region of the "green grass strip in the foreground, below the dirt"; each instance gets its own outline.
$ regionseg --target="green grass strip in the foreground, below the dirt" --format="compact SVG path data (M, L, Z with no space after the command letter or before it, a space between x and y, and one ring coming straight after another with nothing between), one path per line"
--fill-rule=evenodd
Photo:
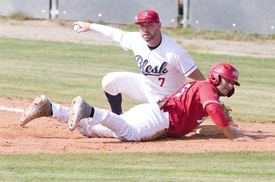
M271 182L275 152L0 155L0 181Z

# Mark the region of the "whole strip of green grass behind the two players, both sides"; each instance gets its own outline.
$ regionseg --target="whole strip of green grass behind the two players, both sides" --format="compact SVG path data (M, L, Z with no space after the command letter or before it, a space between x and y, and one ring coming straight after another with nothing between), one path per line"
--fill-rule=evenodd
M80 95L99 108L109 108L101 80L109 72L139 73L132 51L115 46L0 39L0 96L33 100L45 94L52 102L71 103ZM207 78L217 62L239 70L241 87L221 97L238 121L275 122L275 60L190 52ZM191 81L189 79L189 81ZM123 97L123 110L138 103Z

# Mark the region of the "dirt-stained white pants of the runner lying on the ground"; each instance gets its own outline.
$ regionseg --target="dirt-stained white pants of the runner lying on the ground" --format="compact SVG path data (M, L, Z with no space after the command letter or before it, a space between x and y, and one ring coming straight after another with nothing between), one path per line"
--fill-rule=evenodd
M53 116L67 123L71 108L52 103ZM157 103L140 104L123 115L95 108L93 118L79 121L76 130L87 137L117 138L121 141L150 141L162 138L169 127L168 112L160 110Z

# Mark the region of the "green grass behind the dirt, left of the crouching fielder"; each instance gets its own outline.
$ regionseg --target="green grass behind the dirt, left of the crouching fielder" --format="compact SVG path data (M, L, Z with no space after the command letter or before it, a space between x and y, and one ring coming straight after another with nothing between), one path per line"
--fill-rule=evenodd
M112 46L0 39L0 96L33 99L39 94L70 103L83 96L108 107L101 80L112 71L138 72L133 53ZM135 105L127 98L126 103Z

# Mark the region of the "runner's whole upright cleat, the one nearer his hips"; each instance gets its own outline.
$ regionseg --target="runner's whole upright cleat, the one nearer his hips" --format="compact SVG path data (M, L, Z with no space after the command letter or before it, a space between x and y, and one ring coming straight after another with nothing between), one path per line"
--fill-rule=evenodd
M68 126L69 129L73 131L80 120L90 117L92 107L86 103L81 96L77 96L73 99L71 108L72 111L68 119Z

